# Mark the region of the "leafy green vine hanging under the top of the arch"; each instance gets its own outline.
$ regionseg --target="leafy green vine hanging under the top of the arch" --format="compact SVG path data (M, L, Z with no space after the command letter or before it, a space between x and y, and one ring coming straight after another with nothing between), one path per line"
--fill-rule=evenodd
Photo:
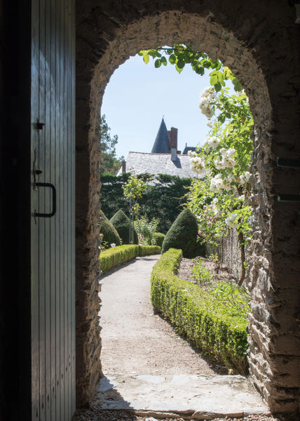
M191 47L183 44L175 44L172 47L158 47L150 50L139 51L144 63L149 63L149 58L154 60L154 67L161 65L166 66L168 62L174 65L177 72L181 73L185 65L191 65L191 68L201 76L205 73L205 69L211 69L210 84L214 86L216 92L221 91L225 86L226 80L231 80L235 91L242 91L240 81L234 76L229 67L223 66L219 60L212 60L205 53L193 51Z

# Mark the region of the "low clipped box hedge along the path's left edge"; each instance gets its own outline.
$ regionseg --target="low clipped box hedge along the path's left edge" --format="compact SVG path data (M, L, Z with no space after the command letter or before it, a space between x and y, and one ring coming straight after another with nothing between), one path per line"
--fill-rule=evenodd
M102 274L113 267L122 265L128 260L134 259L137 256L148 256L161 253L161 247L158 246L136 246L124 245L118 247L111 247L100 253L100 269Z

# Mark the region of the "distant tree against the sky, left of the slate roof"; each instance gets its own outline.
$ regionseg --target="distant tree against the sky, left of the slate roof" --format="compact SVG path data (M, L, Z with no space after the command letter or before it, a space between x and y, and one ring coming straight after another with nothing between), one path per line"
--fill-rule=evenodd
M108 126L105 114L101 116L100 124L100 172L115 174L118 172L123 161L123 156L116 157L116 144L118 143L118 136L111 137L111 128Z

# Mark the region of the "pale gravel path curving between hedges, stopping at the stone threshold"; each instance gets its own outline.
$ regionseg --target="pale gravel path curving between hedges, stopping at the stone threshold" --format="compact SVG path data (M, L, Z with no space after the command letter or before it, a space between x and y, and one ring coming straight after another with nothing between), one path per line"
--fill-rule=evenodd
M224 373L221 367L212 366L197 354L167 321L154 314L150 275L159 257L137 258L102 278L100 324L104 373Z

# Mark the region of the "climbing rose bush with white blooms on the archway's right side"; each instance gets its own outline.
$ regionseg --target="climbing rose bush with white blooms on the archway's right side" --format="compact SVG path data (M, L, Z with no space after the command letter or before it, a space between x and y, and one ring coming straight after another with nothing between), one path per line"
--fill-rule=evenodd
M250 237L247 197L253 119L245 93L229 96L225 88L212 104L220 113L210 122L210 137L196 157L203 162L207 176L194 180L186 197L189 208L198 215L201 241L216 245L228 227L236 228L245 239Z

